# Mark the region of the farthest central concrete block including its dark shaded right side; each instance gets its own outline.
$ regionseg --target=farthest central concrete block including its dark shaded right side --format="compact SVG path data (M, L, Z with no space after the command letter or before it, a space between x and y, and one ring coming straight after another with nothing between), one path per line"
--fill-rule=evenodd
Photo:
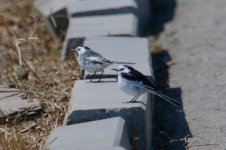
M150 25L149 0L86 0L68 3L68 14L73 17L134 14L138 18L139 35L146 35Z

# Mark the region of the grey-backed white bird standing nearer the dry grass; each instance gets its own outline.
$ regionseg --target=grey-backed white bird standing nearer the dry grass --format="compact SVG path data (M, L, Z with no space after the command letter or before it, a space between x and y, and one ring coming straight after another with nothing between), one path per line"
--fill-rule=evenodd
M90 49L87 46L78 46L76 49L72 50L74 53L78 54L78 64L81 69L84 69L88 72L94 73L90 77L90 82L92 82L93 77L96 75L96 72L101 72L99 77L99 82L103 76L104 69L109 65L115 64L133 64L128 62L116 62L110 61L109 59L103 57L99 53L95 52L94 50Z

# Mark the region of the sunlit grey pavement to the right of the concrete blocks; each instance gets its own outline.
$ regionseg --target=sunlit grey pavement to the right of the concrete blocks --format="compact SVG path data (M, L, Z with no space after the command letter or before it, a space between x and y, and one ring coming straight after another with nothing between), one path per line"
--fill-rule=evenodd
M158 40L176 62L170 85L182 89L189 150L226 149L225 6L225 0L178 0L176 16ZM175 150L172 145L162 149Z

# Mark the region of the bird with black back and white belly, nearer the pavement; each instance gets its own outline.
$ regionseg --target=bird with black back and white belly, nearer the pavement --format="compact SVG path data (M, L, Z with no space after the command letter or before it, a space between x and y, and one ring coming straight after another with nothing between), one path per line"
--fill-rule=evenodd
M120 89L128 95L134 96L130 102L136 102L138 97L143 93L151 93L176 107L181 106L177 100L163 94L150 80L134 68L127 65L120 65L118 68L112 70L118 72L118 86Z

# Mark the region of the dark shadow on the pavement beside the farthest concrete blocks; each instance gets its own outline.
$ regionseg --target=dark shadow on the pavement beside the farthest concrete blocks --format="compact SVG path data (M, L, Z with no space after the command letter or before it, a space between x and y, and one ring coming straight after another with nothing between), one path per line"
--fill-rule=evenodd
M149 34L159 35L165 23L174 18L176 0L151 0L151 26Z

